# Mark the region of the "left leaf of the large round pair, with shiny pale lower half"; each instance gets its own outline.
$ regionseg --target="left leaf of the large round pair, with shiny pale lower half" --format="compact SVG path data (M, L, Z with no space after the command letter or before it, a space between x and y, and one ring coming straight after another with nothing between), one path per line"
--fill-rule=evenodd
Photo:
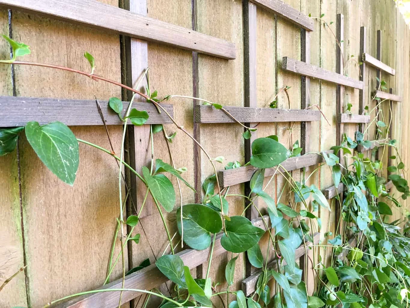
M177 217L181 208L177 210ZM222 229L222 221L218 212L201 204L187 204L182 207L182 223L184 241L191 248L203 250L211 244L211 233L218 233ZM182 234L181 220L177 219L178 230Z

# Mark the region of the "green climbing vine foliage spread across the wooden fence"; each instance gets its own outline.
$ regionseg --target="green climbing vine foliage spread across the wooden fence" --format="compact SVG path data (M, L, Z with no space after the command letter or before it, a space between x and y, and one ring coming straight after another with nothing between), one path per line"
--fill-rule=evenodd
M16 56L30 53L28 46L17 43L7 38L11 44L14 57L11 60L2 60L0 63L17 63ZM95 69L95 60L89 54L84 56L91 64L91 75ZM288 89L288 88L287 88ZM157 92L152 92L149 87L146 89L147 95L144 97L155 106L160 107ZM171 99L173 96L165 97ZM133 99L132 99L133 101ZM123 103L118 98L109 100L109 107L118 114L118 117L127 124L128 120L136 126L146 123L148 113L131 108L130 102L128 110L123 111ZM214 108L223 109L220 104L211 103ZM378 101L378 104L382 101ZM271 106L275 107L275 106ZM380 121L379 121L380 122ZM386 125L378 122L380 132ZM175 123L175 122L174 122ZM384 126L383 126L384 124ZM178 125L177 125L178 126ZM181 129L180 126L178 126ZM124 125L124 136L127 125ZM358 146L363 148L371 147L371 141L364 140L364 133L358 131L355 140L344 136L341 146L333 147L333 153L323 152L326 165L332 171L332 179L335 187L343 183L345 190L338 192L337 207L341 213L337 232L326 232L325 239L320 244L314 244L315 226L322 228L318 215L319 207L329 210L330 205L326 197L314 185L308 185L308 178L298 182L292 178L286 170L279 168L281 163L291 156L300 156L302 149L298 142L294 143L291 150L278 142L277 136L257 138L251 145L252 156L249 163L257 168L250 181L251 193L243 195L247 200L247 207L255 207L257 198L261 198L267 205L267 212L271 228L265 220L265 230L253 225L252 221L244 217L244 212L240 216L230 216L228 194L229 188L221 189L216 175L211 175L203 182L203 200L198 204L187 204L176 209L176 224L181 239L189 247L196 250L204 250L211 247L209 265L204 279L195 279L191 276L189 267L185 266L182 259L174 253L173 241L162 210L171 212L175 210L176 197L175 188L169 177L176 177L178 181L185 183L188 187L194 188L182 177L185 168L177 169L172 164L161 159L155 160L151 168L144 167L142 174L133 170L123 162L122 143L121 155L118 157L112 151L103 149L98 145L93 145L84 140L77 139L72 131L61 122L52 122L40 126L37 122L29 122L24 127L0 129L0 155L6 155L14 151L18 136L25 132L25 136L38 155L39 159L63 182L73 185L80 162L78 143L96 147L103 152L113 156L126 168L130 169L135 176L139 177L146 185L146 195L150 193L153 197L159 214L164 223L165 230L171 247L171 255L163 255L155 262L157 268L173 283L175 292L170 297L159 292L146 290L118 289L118 291L145 292L163 299L161 308L171 307L212 307L212 297L221 294L234 294L235 300L229 303L229 308L261 308L263 307L287 307L287 308L319 308L335 307L342 305L344 308L352 307L372 307L372 308L395 308L407 307L408 305L408 285L410 284L410 251L408 248L409 239L407 237L410 227L400 233L397 222L386 223L386 217L392 215L389 206L400 206L400 202L394 195L386 190L387 180L392 181L397 191L401 193L401 198L405 199L410 195L407 181L402 177L404 163L397 154L389 159L396 161L396 165L391 165L388 178L381 174L383 164L381 161L372 161L364 154L355 151ZM164 131L162 125L151 126L152 135ZM249 138L255 129L245 127L244 138ZM167 142L172 142L175 134L168 136L164 131ZM394 140L385 143L386 146L393 147ZM153 144L152 144L153 146ZM339 157L343 158L340 161ZM209 157L210 158L210 157ZM210 158L213 162L222 162L223 157ZM350 163L348 163L350 162ZM226 165L226 169L239 168L239 162L231 162ZM285 202L276 202L268 193L264 186L265 169L276 168L276 173L281 174L286 180L286 185L293 192L292 198ZM315 170L316 171L316 170ZM314 171L314 172L315 172ZM121 168L120 168L121 172ZM272 177L273 177L272 176ZM121 186L121 176L119 177ZM270 182L269 182L270 183ZM284 188L285 189L285 188ZM140 235L132 236L134 228L139 223L138 215L129 216L123 221L123 200L120 191L120 215L117 219L118 229L126 224L131 227L130 232L125 236L125 241L121 237L121 246L125 246L127 241L139 243ZM283 193L283 190L282 190ZM278 200L281 200L282 193ZM146 198L145 198L146 200ZM145 204L145 202L144 202ZM141 206L141 209L144 207ZM141 210L140 209L140 210ZM260 212L259 212L260 213ZM262 213L260 213L262 216ZM340 230L340 231L339 231ZM219 282L212 282L209 273L212 264L212 252L215 244L216 234L223 232L221 245L225 250L232 253L232 257L225 268L225 278L227 282L226 290L216 291ZM269 232L270 241L267 245L266 257L263 257L259 241L265 232ZM330 238L331 237L331 238ZM310 242L308 246L307 243ZM353 245L355 243L355 245ZM113 245L114 247L114 245ZM318 285L314 289L312 296L308 295L307 287L303 282L303 269L298 267L295 250L297 248L314 249L317 247L332 248L331 264L329 266L325 258L310 260L308 270L313 270ZM114 248L113 248L114 249ZM276 266L268 267L269 251L276 253ZM256 268L262 269L255 292L248 297L241 290L230 290L234 283L235 263L238 254L247 252L249 262ZM114 251L112 251L112 254ZM122 252L123 254L123 252ZM115 262L109 263L109 274L105 283L109 281L110 274L118 262L120 255ZM130 275L144 267L150 265L149 260L144 260L138 267L131 269L123 275ZM124 279L124 278L123 278ZM269 280L276 281L276 295L271 297ZM104 292L96 290L83 292L82 294ZM73 294L75 297L79 294ZM69 297L65 297L67 299ZM61 301L57 299L52 303ZM121 303L121 298L120 298Z

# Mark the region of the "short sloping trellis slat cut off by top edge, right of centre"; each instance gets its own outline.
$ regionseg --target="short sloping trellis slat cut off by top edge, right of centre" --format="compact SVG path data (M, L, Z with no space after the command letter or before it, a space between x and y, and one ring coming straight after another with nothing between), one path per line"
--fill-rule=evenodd
M286 19L287 21L301 26L303 29L313 31L312 18L294 9L290 5L280 0L251 0L257 6L262 7L276 15Z

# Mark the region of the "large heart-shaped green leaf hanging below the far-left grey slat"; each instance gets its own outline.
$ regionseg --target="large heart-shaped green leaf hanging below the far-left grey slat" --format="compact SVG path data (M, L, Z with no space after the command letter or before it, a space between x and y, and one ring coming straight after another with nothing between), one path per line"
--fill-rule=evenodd
M77 139L68 126L61 122L43 126L38 122L28 122L25 134L44 165L64 183L73 186L80 155Z

